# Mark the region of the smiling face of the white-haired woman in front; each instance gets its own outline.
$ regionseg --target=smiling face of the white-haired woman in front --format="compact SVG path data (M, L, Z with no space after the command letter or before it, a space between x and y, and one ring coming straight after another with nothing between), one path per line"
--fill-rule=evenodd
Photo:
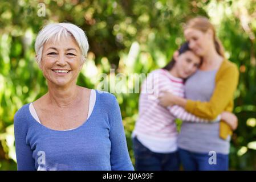
M48 83L57 86L76 84L82 66L82 54L72 36L44 44L39 67Z

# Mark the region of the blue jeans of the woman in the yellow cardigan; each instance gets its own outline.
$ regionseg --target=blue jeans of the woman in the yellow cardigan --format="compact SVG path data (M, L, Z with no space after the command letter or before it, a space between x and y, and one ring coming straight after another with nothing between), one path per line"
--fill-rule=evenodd
M227 171L229 169L229 155L190 152L178 148L181 164L186 171ZM210 160L210 164L209 163Z

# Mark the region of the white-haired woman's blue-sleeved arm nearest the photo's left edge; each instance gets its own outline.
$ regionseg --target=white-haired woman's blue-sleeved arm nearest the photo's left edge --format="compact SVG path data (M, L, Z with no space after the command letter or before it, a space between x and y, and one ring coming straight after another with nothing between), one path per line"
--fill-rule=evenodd
M19 171L35 171L35 160L32 158L32 150L26 143L27 127L21 111L14 116L14 136L17 166Z

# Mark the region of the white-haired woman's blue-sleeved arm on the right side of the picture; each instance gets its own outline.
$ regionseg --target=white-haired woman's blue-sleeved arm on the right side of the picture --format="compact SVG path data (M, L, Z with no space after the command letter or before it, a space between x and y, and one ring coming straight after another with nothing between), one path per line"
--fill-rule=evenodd
M121 112L116 97L111 95L112 107L109 108L109 139L111 140L111 169L112 171L133 171L127 148Z

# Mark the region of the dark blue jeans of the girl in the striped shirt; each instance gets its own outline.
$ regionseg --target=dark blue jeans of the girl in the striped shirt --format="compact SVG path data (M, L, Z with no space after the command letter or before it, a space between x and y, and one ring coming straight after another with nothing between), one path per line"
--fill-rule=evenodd
M152 152L135 137L133 151L137 171L177 171L180 168L178 152L161 154Z

